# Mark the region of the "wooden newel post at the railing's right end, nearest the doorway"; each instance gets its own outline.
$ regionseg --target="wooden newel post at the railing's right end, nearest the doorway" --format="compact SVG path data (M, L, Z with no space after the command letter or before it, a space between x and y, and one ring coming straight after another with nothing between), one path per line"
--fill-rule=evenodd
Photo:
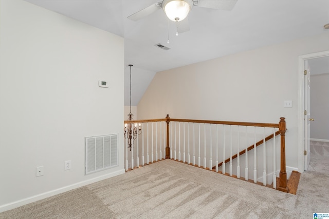
M281 169L280 169L280 181L279 181L278 190L288 192L287 173L286 173L286 149L285 149L286 121L284 117L280 118L279 131L281 134Z

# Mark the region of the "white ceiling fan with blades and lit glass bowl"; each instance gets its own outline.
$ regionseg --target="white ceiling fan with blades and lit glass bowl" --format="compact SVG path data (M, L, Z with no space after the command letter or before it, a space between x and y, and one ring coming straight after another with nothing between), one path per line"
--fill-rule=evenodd
M174 22L184 20L193 6L221 10L232 10L237 0L163 0L146 7L127 18L132 21L148 16L162 8L167 17Z

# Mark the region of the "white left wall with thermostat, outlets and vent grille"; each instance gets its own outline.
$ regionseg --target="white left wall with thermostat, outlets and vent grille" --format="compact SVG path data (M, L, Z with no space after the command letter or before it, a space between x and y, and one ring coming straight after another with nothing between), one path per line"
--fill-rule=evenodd
M0 6L0 211L123 173L119 159L84 174L85 137L119 133L123 157L123 38L21 0Z

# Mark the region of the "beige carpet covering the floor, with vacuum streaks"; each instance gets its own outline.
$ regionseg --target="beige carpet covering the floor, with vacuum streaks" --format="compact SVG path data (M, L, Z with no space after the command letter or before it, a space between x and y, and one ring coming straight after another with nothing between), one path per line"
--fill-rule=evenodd
M172 160L0 213L0 218L313 218L329 212L329 146L314 146L297 195Z

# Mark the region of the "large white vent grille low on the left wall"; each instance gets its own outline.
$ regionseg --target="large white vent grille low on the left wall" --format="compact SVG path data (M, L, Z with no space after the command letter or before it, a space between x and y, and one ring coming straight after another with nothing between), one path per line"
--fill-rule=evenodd
M85 174L118 165L118 134L85 138Z

